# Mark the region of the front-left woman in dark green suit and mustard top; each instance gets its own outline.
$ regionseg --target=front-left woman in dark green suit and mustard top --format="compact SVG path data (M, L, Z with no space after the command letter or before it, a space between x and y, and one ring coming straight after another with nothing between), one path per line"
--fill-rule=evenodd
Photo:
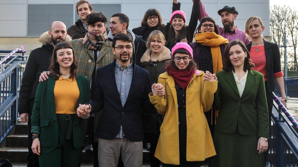
M50 63L49 79L39 83L31 117L31 149L39 155L39 165L80 166L84 146L81 103L90 102L87 78L77 74L77 59L68 42L57 43ZM81 115L79 118L76 113ZM86 112L88 113L88 112Z

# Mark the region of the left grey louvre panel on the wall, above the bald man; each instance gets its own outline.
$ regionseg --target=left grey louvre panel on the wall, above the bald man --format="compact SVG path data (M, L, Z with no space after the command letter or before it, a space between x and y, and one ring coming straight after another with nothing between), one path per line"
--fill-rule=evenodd
M38 37L53 21L61 21L66 27L74 24L73 4L28 4L27 36Z

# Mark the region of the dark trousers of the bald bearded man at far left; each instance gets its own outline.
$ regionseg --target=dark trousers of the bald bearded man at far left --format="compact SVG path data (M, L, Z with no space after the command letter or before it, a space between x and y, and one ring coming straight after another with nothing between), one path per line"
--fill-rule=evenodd
M38 155L34 154L32 152L31 146L32 146L32 134L31 134L31 115L32 115L32 109L33 109L33 103L34 99L30 100L30 113L29 119L28 119L28 156L27 156L27 167L39 167L38 162Z

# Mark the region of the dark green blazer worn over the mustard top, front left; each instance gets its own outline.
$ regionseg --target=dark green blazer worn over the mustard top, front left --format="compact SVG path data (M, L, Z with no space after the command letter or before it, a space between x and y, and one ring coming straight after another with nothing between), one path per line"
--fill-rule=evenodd
M54 99L55 82L56 80L51 77L44 82L40 82L35 95L31 116L31 133L40 134L41 147L53 147L58 144L58 123ZM89 103L89 80L82 75L78 75L77 84L80 92L77 106ZM67 105L67 102L65 102L65 105ZM73 127L74 148L80 148L84 145L83 129L83 121L76 114Z

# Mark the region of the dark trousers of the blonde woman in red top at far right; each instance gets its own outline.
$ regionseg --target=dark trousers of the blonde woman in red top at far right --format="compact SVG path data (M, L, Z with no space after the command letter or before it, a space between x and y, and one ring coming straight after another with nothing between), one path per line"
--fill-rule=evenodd
M272 92L269 92L269 90L268 90L267 82L265 82L265 90L266 90L266 98L267 98L268 113L269 113L269 135L271 135L271 112L272 112L272 107L273 107L273 95L272 95ZM269 136L269 138L270 137L271 136ZM270 149L270 145L268 145L267 151L265 151L263 153L265 165L266 165L267 160L268 160L269 149Z

